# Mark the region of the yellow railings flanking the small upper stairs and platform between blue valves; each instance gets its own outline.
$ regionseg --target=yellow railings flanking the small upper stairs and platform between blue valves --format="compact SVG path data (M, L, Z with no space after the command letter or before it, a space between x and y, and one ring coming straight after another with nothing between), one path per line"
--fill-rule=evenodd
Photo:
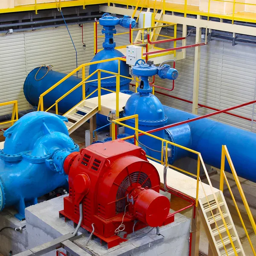
M93 65L93 64L98 64L98 63L102 63L102 62L109 62L109 61L116 61L118 60L118 73L114 73L111 71L106 71L106 70L95 70L93 73L91 73L89 76L85 77L85 67ZM131 77L128 76L122 76L120 75L120 61L125 61L125 59L123 58L112 58L112 59L107 59L107 60L101 60L101 61L93 61L90 63L85 63L85 64L81 64L78 68L76 68L75 70L73 70L71 73L69 73L67 76L65 76L63 79L61 79L60 81L58 81L56 84L52 85L52 87L50 87L48 90L46 90L44 93L42 93L39 97L39 103L38 103L38 109L41 111L44 111L44 96L46 96L49 92L51 92L52 90L54 90L57 86L59 86L62 82L64 82L65 80L67 80L70 76L73 76L74 74L76 74L76 72L78 72L79 70L82 70L82 81L80 83L78 83L76 86L74 86L73 88L71 88L69 91L67 91L66 93L64 93L64 95L62 95L60 98L55 100L55 103L53 103L49 108L47 108L45 111L49 111L50 109L52 109L53 107L55 107L55 113L58 114L58 103L64 99L65 97L67 97L68 95L70 95L70 93L72 93L74 90L76 90L77 88L82 86L82 100L86 100L87 98L89 98L91 95L93 95L93 93L98 91L98 110L101 111L101 90L106 90L112 93L116 93L116 117L119 117L119 91L120 91L120 77L123 78L127 78L127 79L131 79ZM113 76L107 76L107 77L101 77L101 73L108 73L111 74ZM93 75L95 75L97 73L97 79L93 79L93 80L89 80ZM102 88L101 87L101 81L104 79L110 79L116 77L116 91L113 90L109 90L107 88ZM98 81L98 88L96 88L96 90L94 90L92 93L90 93L88 96L85 96L85 91L86 91L86 87L85 84L89 83L89 82L93 82L93 81Z

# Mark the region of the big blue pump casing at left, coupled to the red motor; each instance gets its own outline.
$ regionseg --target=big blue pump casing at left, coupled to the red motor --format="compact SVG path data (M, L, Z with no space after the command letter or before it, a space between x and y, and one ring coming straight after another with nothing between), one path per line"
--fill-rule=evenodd
M4 133L0 150L0 211L15 206L17 218L25 218L25 207L37 198L67 186L63 163L67 155L79 151L69 137L65 117L31 112Z

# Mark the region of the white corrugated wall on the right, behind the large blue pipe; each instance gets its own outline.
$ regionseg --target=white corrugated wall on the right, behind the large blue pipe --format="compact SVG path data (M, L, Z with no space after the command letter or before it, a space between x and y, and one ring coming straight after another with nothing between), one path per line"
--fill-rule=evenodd
M118 30L118 32L123 32ZM165 35L166 31L162 30ZM167 33L170 35L171 33ZM178 37L181 35L177 35ZM121 36L119 36L121 37ZM166 38L158 38L166 39ZM128 36L122 35L117 45L127 42ZM187 39L188 44L195 44L195 37ZM177 47L181 42L177 42ZM171 48L173 43L162 44L160 47ZM194 76L195 48L186 50L186 59L176 62L179 77L175 81L175 89L172 92L159 90L160 92L177 96L192 101L193 76ZM255 99L256 95L256 48L253 46L236 45L223 41L211 41L207 46L201 47L199 103L212 108L224 109ZM172 81L162 80L156 77L156 85L172 87ZM192 104L156 93L156 96L165 105L192 112ZM198 114L204 115L212 111L207 108L199 108ZM231 111L241 116L252 118L253 105ZM249 131L256 132L256 122L247 121L227 114L213 116L212 119L234 125ZM256 113L254 113L256 119Z

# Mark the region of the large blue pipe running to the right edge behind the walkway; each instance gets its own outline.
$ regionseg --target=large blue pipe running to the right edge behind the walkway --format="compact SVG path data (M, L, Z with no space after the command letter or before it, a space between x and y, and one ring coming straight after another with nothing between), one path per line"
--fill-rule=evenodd
M167 125L198 117L165 105L163 108ZM182 126L168 129L173 142L201 152L204 162L216 168L221 167L222 145L227 145L237 174L256 182L256 134L208 118L189 122L186 127L190 132L182 131ZM189 156L196 157L195 154ZM226 168L229 170L228 165Z

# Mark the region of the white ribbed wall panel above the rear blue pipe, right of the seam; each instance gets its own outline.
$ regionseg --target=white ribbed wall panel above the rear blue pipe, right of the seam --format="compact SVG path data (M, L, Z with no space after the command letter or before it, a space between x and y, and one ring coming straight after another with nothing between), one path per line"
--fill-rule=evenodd
M76 46L78 66L93 58L93 22L84 23L84 49L79 25L68 26ZM100 28L98 35L101 35ZM99 39L99 44L102 39ZM52 64L53 70L70 73L76 68L76 52L66 26L26 32L27 67L31 71L43 64ZM86 70L88 73L88 69ZM79 73L81 76L81 72Z

